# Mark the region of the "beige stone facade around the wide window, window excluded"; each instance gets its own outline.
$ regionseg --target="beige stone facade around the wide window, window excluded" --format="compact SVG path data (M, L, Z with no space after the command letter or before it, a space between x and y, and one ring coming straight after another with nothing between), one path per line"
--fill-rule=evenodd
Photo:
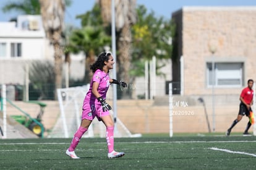
M211 94L206 86L210 46L216 48L216 61L244 62L244 85L247 79L255 79L256 7L184 7L173 18L181 15L184 95ZM240 90L216 88L215 93L239 94Z

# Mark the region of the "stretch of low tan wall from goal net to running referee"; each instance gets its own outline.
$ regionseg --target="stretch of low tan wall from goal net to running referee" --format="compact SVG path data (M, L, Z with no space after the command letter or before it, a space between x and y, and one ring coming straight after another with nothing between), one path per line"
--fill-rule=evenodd
M238 105L215 106L215 132L226 132L237 117ZM168 106L127 106L118 107L118 117L132 133L169 133ZM213 131L213 114L211 106L207 106L208 121ZM244 132L247 117L234 127L233 132ZM250 128L252 132L253 125ZM173 109L174 133L205 133L208 132L207 119L203 106L187 106Z

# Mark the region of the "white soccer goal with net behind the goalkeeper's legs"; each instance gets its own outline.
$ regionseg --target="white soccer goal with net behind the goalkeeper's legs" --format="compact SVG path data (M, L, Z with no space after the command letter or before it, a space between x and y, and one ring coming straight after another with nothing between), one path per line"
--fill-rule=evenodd
M49 134L51 138L72 138L79 128L82 114L83 99L90 85L58 89L58 101L61 114ZM113 114L112 111L110 111ZM105 137L106 127L103 122L94 119L83 137ZM115 137L140 137L141 134L131 134L127 127L117 118L114 130Z

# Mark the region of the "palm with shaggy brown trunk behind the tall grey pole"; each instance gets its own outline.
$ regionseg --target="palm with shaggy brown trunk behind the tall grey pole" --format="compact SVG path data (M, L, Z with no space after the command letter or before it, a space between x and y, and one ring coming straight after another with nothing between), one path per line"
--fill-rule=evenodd
M103 23L111 22L111 0L100 0L101 17ZM117 51L119 67L117 75L119 79L124 79L130 83L129 66L130 66L130 49L131 49L131 26L136 22L136 0L116 0L116 31L117 31Z

